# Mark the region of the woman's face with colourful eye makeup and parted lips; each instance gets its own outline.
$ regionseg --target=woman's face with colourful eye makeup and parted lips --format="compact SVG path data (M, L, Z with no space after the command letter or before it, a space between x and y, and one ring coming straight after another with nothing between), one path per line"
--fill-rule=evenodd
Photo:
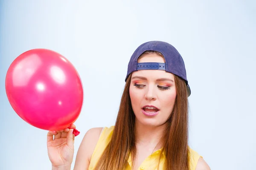
M157 54L146 54L138 62L165 62ZM176 88L174 76L163 70L139 70L131 75L129 88L136 121L143 125L163 125L172 113Z

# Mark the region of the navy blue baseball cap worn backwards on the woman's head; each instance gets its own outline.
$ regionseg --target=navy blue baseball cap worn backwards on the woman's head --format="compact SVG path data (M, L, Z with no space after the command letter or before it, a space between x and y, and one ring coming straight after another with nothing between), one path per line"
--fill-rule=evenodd
M165 63L159 62L141 62L137 63L138 58L145 51L157 51L160 52ZM166 72L175 74L176 76L182 78L186 82L188 96L191 94L191 90L186 77L186 68L184 61L180 53L171 44L163 41L149 41L140 45L132 54L130 62L128 64L127 75L125 77L125 82L128 76L137 70L165 70Z

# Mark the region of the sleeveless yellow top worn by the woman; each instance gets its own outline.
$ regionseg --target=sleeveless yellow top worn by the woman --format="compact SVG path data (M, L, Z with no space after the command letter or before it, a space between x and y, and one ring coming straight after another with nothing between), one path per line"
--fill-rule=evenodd
M108 143L111 140L113 128L114 126L103 128L102 133L99 136L99 141L97 142L96 147L93 151L93 154L90 160L89 170L94 170L94 167L97 161L99 160L101 154L103 153L103 151L105 150L105 148L107 147ZM190 170L195 170L198 159L202 156L200 156L197 152L192 150L190 147L189 149L190 149L189 167L190 167ZM157 170L158 161L154 161L154 160L159 158L160 150L157 150L154 153L152 153L152 155L148 156L148 158L146 158L143 161L143 163L140 165L139 170ZM162 156L160 160L160 165L159 165L160 170L163 170L164 159L165 159L165 156ZM132 164L131 164L131 155L130 155L128 159L128 164L125 170L131 170L131 166Z

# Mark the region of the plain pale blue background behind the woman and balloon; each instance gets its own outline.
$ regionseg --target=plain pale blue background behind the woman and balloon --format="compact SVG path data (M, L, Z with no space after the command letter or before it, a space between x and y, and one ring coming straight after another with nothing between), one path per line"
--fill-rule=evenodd
M212 170L254 170L255 11L253 0L0 0L0 170L51 169L47 131L20 119L6 97L18 55L49 48L79 71L76 157L89 128L114 124L130 56L149 40L171 43L185 61L190 147Z

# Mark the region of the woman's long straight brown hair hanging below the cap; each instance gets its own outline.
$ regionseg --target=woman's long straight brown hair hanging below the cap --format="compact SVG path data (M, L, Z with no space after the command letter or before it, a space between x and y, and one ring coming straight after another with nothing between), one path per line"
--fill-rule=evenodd
M143 55L150 53L156 53L163 57L162 54L155 51L146 51ZM189 170L186 82L176 75L174 75L174 78L177 96L174 109L166 121L161 152L164 152L166 156L166 170ZM130 83L131 74L126 81L122 94L111 141L98 160L95 170L124 170L128 164L129 153L131 153L132 158L136 155L135 115L131 107Z

